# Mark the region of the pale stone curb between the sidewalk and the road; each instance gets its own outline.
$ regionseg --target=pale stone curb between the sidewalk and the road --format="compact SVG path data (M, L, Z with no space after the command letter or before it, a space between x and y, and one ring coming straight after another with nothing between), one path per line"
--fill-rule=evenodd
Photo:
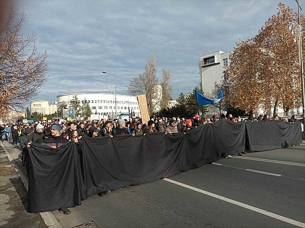
M17 163L15 162L14 158L8 152L6 146L4 146L4 144L1 141L0 141L0 145L3 148L3 151L7 155L8 159L10 160L10 162L14 165L15 170L16 170L19 178L23 182L26 190L29 191L29 182L28 182L28 179L25 177L24 173L21 171L21 168L17 165ZM54 214L52 212L40 212L40 216L43 218L43 220L44 220L44 222L45 222L45 224L46 224L46 226L48 228L61 228L61 225L59 224L59 222L57 221L57 219L55 218L55 216L54 216Z

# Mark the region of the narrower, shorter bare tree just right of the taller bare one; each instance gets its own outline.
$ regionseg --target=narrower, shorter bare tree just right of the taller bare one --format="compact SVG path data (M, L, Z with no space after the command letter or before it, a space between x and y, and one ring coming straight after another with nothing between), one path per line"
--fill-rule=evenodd
M162 69L162 97L160 102L161 108L167 108L168 102L171 99L171 93L173 91L173 87L170 85L170 69Z

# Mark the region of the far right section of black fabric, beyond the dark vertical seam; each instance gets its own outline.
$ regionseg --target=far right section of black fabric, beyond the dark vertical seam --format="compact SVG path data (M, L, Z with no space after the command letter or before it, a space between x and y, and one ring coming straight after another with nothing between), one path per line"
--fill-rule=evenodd
M301 122L246 122L246 150L268 151L302 143Z

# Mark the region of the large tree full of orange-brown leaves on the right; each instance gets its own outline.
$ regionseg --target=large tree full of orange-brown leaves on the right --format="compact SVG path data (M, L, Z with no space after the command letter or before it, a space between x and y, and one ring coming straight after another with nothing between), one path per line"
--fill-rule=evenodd
M290 30L298 16L282 3L277 9L255 37L238 43L230 55L230 102L248 112L262 104L266 111L274 107L276 115L279 105L301 104L298 41Z

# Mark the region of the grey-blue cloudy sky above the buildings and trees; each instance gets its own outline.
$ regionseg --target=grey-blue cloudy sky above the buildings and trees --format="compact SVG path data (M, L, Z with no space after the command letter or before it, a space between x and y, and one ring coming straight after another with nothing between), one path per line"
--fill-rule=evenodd
M279 0L31 0L18 2L47 52L48 79L36 99L74 92L111 92L143 73L152 55L157 76L171 70L172 98L199 83L200 55L229 51L254 36L276 13ZM282 0L297 10L295 0ZM301 4L305 0L300 1ZM118 94L128 94L119 87Z

